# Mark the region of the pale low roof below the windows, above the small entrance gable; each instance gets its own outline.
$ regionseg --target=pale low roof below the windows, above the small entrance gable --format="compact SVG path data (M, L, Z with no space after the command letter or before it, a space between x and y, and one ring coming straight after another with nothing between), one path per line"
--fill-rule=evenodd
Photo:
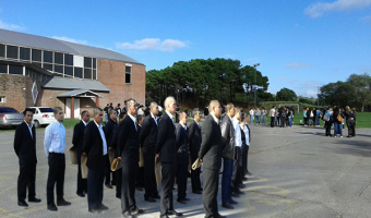
M45 81L41 86L51 89L84 89L109 93L110 89L96 80L76 80L61 76L53 76Z

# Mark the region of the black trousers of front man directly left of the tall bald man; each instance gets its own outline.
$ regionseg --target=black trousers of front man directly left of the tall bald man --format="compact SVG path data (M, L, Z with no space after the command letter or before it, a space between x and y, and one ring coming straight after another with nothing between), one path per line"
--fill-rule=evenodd
M121 210L122 213L135 209L135 178L137 171L137 161L122 162L122 182L121 182Z

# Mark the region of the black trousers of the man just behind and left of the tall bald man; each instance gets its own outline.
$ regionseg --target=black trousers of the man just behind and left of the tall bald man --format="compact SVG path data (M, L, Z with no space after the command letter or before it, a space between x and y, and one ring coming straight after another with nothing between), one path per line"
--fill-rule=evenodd
M144 198L158 195L155 174L155 149L142 149L144 159Z

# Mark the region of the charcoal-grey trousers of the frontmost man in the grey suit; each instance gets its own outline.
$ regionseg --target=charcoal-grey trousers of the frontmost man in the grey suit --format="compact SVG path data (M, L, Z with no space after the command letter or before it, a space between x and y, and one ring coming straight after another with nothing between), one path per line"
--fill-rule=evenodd
M219 186L219 170L204 168L204 191L202 201L204 204L205 218L218 217L218 186Z

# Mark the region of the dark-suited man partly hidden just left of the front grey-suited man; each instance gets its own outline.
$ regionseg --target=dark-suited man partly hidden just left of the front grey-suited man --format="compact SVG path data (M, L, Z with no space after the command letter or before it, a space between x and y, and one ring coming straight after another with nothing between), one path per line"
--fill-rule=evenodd
M199 124L201 116L199 110L193 110L193 122L188 128L188 134L190 136L191 165L193 165L193 162L198 159L201 146L201 129ZM192 192L195 194L202 194L200 172L201 168L191 171Z

